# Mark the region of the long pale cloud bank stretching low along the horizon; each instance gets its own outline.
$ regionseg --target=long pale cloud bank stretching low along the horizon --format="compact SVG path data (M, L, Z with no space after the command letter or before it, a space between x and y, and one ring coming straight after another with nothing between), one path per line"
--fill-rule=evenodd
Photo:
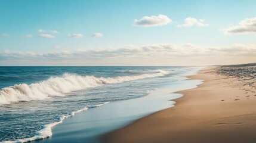
M57 61L66 61L67 63L76 62L80 66L101 63L102 61L130 61L136 63L135 65L143 66L146 60L147 63L153 66L158 65L155 63L156 61L162 61L163 66L170 66L166 61L186 61L187 63L193 62L195 65L203 65L206 63L218 64L216 59L227 60L224 63L230 64L231 61L237 61L238 59L240 61L249 59L251 62L255 62L255 55L256 45L252 44L236 43L228 46L202 47L193 45L192 43L183 45L157 43L144 46L128 45L122 48L77 49L76 51L55 51L47 53L4 50L0 52L0 65L4 65L10 61L18 61L26 65L27 61L32 60L42 65L55 65L53 63L58 63ZM197 60L193 61L192 59ZM45 61L48 61L48 63L44 63ZM179 64L181 63L177 62L177 64L172 65ZM118 66L117 63L111 62L108 65Z

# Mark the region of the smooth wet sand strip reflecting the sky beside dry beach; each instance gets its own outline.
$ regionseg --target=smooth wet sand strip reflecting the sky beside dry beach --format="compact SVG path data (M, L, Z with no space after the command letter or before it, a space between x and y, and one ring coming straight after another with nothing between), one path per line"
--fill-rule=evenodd
M194 71L195 70L195 71ZM101 142L101 136L112 130L122 128L134 120L146 117L156 111L172 107L175 98L182 95L175 92L195 88L201 80L187 80L187 75L195 74L193 69L181 73L169 85L162 85L149 95L140 98L110 102L100 108L90 108L76 116L63 120L63 123L52 129L53 136L36 142Z

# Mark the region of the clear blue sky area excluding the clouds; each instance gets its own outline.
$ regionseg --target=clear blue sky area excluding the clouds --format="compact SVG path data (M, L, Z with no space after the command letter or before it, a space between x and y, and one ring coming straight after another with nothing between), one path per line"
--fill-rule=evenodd
M239 22L246 18L256 17L255 5L256 1L0 0L0 35L2 35L0 51L33 52L35 54L57 51L73 53L78 49L123 48L129 45L144 46L159 43L175 45L192 43L200 47L255 45L256 33L254 32L229 35L223 32L223 29L228 29L230 26L238 26ZM135 19L140 20L145 16L151 17L159 14L165 15L172 22L162 26L134 26ZM208 26L178 27L184 24L187 17L202 19L203 23ZM39 29L47 32L40 33ZM59 33L52 33L50 30L57 30ZM83 36L81 38L68 36L74 33ZM95 38L92 36L94 33L101 33L103 36ZM53 35L55 38L42 38L39 36L42 34ZM23 38L25 35L30 35L32 38ZM10 60L11 55L4 56L0 58L2 65L14 65L14 62L18 60L18 58ZM27 65L31 61L29 58L23 60L21 65ZM58 61L56 65L72 63L67 62L66 58L60 60L62 61ZM82 60L88 61L88 59L79 59L79 62ZM246 60L241 62L244 61L246 62ZM47 65L50 61L33 60L33 62ZM125 63L125 65L133 65L134 62ZM169 62L173 64L172 60ZM122 63L117 65L120 64ZM189 63L184 61L180 64ZM198 64L200 63L196 63ZM141 63L141 65L144 64Z

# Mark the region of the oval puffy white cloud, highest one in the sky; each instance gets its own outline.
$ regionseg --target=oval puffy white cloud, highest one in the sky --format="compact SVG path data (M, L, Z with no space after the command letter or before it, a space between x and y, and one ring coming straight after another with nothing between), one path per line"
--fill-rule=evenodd
M159 14L158 16L152 15L151 17L144 16L143 18L134 20L134 26L153 27L164 26L171 23L172 20L166 15Z

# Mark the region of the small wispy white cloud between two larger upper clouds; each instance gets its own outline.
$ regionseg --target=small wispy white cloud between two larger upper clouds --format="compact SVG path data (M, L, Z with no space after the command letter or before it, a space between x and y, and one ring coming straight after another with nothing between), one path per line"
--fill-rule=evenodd
M209 24L204 23L205 20L202 19L196 19L193 17L187 17L184 20L184 24L178 25L178 27L191 27L191 26L198 26L198 27L202 27L202 26L209 26Z

